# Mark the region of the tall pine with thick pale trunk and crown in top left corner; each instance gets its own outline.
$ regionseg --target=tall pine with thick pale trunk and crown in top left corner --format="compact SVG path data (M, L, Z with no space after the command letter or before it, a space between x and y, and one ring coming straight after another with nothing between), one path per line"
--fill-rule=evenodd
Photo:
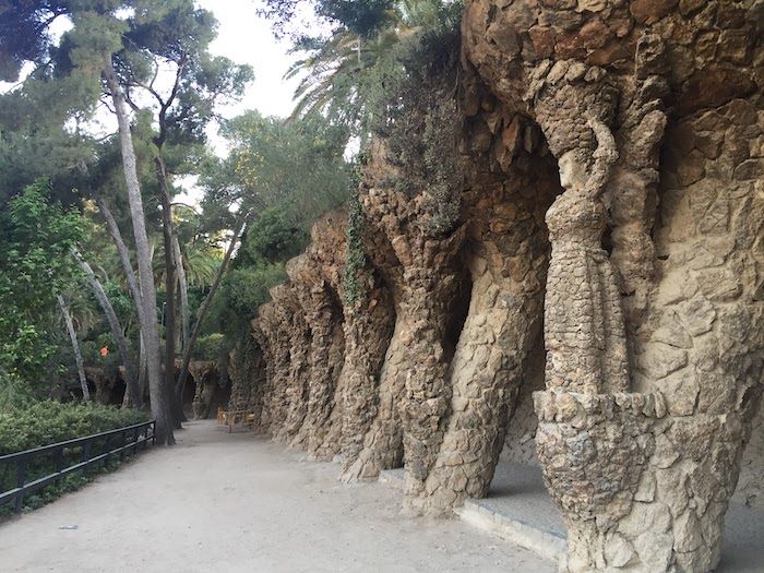
M159 443L175 442L170 425L169 408L162 380L159 333L156 317L156 288L154 286L151 248L146 232L146 219L138 177L135 150L131 134L130 117L119 76L115 70L116 55L123 50L124 34L130 27L126 21L146 16L152 10L162 11L162 5L151 0L36 0L14 2L13 10L2 12L3 27L2 61L7 68L15 67L15 73L24 61L34 61L49 68L58 77L75 80L77 84L104 87L117 116L119 141L122 154L128 203L135 240L141 299L136 306L141 321L141 336L147 360L152 415L156 419ZM48 35L50 23L68 16L73 28L53 47ZM27 38L23 34L34 34ZM7 76L12 75L8 74Z

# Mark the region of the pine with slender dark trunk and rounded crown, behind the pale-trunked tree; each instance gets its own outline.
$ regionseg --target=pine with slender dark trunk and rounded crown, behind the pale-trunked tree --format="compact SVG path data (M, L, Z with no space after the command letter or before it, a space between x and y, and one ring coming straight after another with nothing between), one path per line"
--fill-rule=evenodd
M124 99L134 111L142 108L136 95L143 94L152 100L158 130L153 138L155 145L155 170L162 203L162 229L165 259L166 335L165 335L165 386L175 384L175 287L181 280L181 317L183 318L183 354L193 350L198 336L188 334L189 317L188 286L184 284L181 250L172 224L171 169L182 169L189 158L198 154L196 147L204 143L204 128L214 118L219 99L235 99L243 93L251 80L249 67L234 64L227 58L212 57L210 41L214 38L215 20L205 10L196 9L190 0L175 0L157 14L136 13L124 35L124 49L117 55L117 71L123 88ZM157 86L159 70L172 70L170 87ZM169 150L167 148L169 147ZM168 164L167 156L174 164ZM237 237L234 238L234 243ZM220 272L225 272L227 258ZM213 283L212 296L219 280ZM204 307L203 307L204 308ZM183 359L181 378L188 368ZM177 394L177 393L176 393ZM176 427L183 418L179 396L171 401Z

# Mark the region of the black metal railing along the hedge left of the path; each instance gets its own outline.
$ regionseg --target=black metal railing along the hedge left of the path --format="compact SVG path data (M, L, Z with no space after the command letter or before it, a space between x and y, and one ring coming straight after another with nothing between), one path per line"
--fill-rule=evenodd
M156 443L155 420L2 455L0 456L0 476L15 468L16 487L0 493L0 506L13 502L14 510L21 512L25 496L58 482L69 474L84 471L94 464L106 463L110 456L119 455L119 459L122 461L124 454L131 450L138 450L139 446L145 450L150 441L152 444ZM44 476L29 475L31 466L40 461L44 462L41 467L53 470L50 473L46 470ZM69 465L64 467L65 464ZM4 482L7 482L4 479L0 480L0 488Z

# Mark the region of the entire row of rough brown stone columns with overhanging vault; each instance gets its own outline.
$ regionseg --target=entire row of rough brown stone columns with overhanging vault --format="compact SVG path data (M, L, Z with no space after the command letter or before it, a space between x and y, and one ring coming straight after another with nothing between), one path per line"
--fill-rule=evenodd
M343 480L404 466L405 510L447 514L487 493L545 370L561 570L712 570L764 387L763 17L467 1L458 91L426 110L458 128L439 150L458 183L379 140L362 225L317 224L237 399Z

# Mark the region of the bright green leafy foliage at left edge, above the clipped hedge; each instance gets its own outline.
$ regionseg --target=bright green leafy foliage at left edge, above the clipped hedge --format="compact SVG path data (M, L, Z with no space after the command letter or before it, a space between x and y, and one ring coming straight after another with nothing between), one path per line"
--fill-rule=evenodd
M82 216L49 203L48 193L38 181L0 214L0 368L37 382L50 373L56 296L79 277L70 251L85 234Z

